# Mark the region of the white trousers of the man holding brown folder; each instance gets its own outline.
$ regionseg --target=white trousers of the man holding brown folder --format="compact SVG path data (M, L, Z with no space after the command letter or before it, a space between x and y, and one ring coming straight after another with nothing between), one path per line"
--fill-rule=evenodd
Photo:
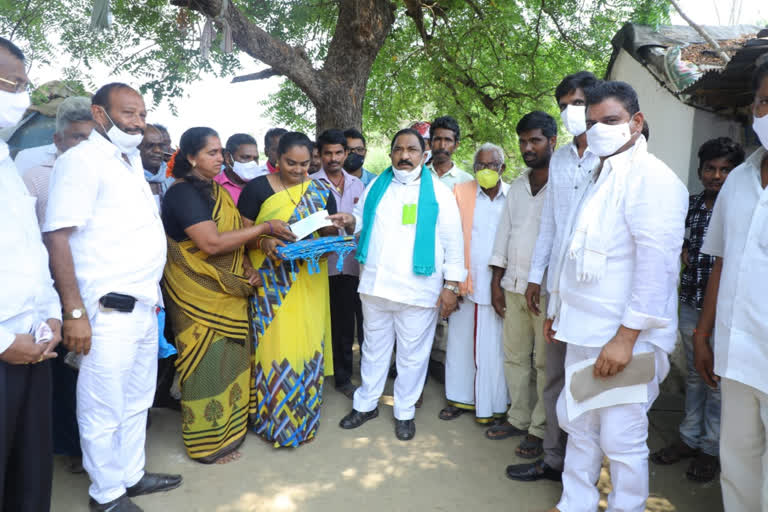
M566 368L600 355L602 347L568 345ZM648 410L659 396L659 383L669 372L667 354L649 343L635 344L634 353L656 354L656 377L648 383L648 402L603 407L569 421L563 389L557 401L560 427L568 433L563 467L561 512L595 512L600 493L595 486L603 455L610 461L613 490L606 512L644 512L648 499Z

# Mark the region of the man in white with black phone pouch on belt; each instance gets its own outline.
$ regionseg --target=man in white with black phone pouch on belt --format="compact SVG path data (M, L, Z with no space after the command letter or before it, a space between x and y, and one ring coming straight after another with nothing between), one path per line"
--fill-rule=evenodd
M130 497L181 484L178 475L144 471L166 241L137 149L144 101L108 84L93 96L92 113L91 136L56 161L43 229L64 343L85 355L77 417L90 509L133 511Z

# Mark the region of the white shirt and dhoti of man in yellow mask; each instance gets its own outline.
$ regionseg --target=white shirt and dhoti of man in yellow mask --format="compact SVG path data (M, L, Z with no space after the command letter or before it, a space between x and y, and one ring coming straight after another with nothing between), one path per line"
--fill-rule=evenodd
M509 185L491 200L477 187L470 241L473 291L451 315L445 357L445 395L456 407L473 409L480 422L504 416L509 405L504 380L503 320L491 306L491 259L496 228Z

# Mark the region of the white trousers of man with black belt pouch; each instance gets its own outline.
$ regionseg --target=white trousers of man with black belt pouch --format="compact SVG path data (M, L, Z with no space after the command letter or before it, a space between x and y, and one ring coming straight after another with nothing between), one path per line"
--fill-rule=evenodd
M77 379L77 423L88 493L106 503L144 476L147 410L157 381L155 308L136 303L131 313L97 311L91 331Z

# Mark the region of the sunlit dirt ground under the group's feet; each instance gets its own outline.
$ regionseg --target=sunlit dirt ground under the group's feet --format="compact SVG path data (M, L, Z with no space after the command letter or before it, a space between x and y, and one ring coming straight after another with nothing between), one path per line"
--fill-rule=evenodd
M326 386L317 439L298 449L275 450L249 434L242 458L227 465L192 462L181 442L179 413L152 411L147 436L147 468L182 473L184 484L165 494L136 499L144 510L162 512L346 512L378 511L539 511L553 506L560 484L514 482L508 464L519 438L490 441L483 428L464 415L446 422L442 387L430 379L424 406L416 414L416 437L398 441L392 421L392 380L380 415L357 430L338 427L351 401ZM651 413L650 448L676 435L682 398L662 395ZM719 482L701 485L685 478L686 462L651 465L648 511L720 511ZM600 486L609 488L603 470ZM56 461L53 511L87 510L88 478L71 475ZM603 503L604 504L604 503Z

